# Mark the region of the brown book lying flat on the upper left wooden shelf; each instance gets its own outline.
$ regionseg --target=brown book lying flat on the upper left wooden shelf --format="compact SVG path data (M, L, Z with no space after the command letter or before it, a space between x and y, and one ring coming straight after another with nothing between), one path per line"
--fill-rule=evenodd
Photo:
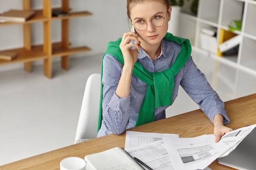
M35 11L10 9L0 14L0 20L5 22L25 22L35 14Z

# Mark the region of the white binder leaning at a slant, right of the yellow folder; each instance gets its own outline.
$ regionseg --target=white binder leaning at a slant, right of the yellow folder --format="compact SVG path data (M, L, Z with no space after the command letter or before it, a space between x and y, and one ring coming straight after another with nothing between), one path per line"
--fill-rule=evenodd
M234 48L235 46L237 46L238 44L240 44L241 41L242 41L242 35L236 35L233 38L230 38L229 40L221 43L219 45L219 50L221 53L228 51Z

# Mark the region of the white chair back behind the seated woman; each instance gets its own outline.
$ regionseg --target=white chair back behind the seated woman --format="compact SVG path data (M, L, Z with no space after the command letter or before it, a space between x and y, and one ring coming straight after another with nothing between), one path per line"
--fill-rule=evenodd
M87 79L80 110L75 144L97 137L101 74L94 73Z

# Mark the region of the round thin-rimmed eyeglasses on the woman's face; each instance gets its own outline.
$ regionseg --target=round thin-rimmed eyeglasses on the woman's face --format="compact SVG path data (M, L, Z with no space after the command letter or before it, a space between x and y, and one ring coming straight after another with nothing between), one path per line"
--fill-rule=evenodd
M167 14L168 12L166 13L166 16ZM148 20L148 21L151 21L154 26L162 26L164 24L164 19L166 18L166 16L162 17L161 15L156 15L151 20ZM137 20L133 25L139 31L143 31L148 26L145 20Z

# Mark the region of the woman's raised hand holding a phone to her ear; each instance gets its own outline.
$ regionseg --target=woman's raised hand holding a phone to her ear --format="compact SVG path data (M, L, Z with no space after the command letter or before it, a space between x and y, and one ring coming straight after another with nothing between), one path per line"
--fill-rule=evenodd
M123 57L124 57L124 65L125 66L134 66L135 62L138 58L138 51L140 50L140 42L138 40L139 35L137 35L134 32L128 32L124 33L122 41L119 45ZM134 40L135 43L130 43L131 40ZM134 49L130 49L131 47L134 47Z

